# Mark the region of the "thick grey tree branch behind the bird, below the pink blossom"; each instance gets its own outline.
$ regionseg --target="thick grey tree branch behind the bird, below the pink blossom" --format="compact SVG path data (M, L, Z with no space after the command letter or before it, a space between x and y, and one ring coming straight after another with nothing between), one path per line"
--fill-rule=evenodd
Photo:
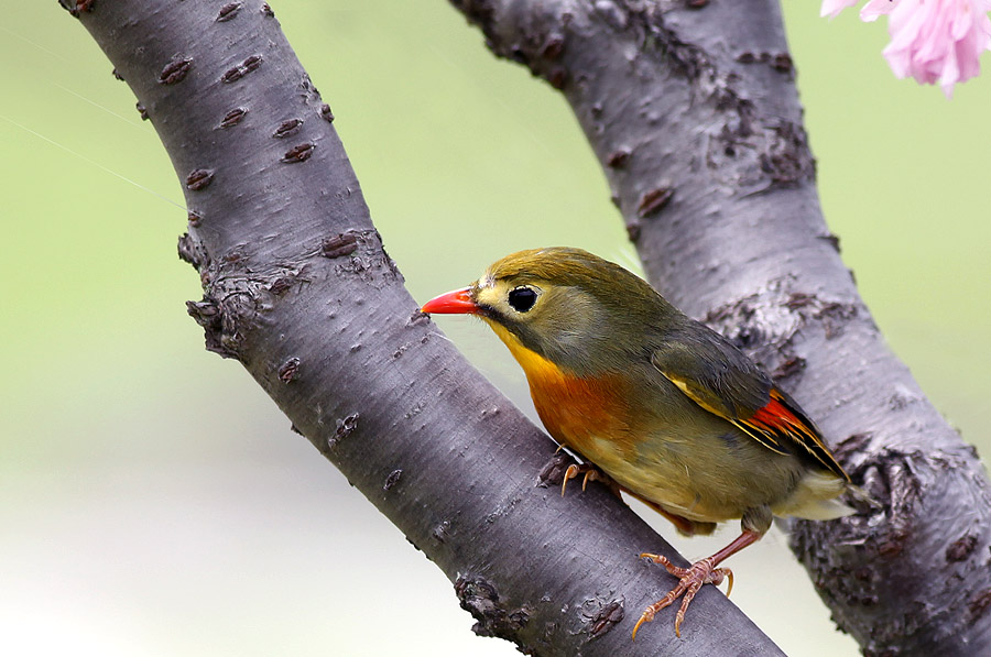
M865 654L991 654L991 495L821 217L774 0L451 0L570 102L654 285L747 350L882 503L792 547Z

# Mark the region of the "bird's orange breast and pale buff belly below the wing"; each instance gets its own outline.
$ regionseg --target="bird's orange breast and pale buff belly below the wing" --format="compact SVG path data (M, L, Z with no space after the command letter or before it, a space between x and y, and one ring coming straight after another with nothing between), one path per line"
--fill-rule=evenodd
M537 414L558 442L672 514L719 523L767 506L780 515L814 517L805 507L842 491L840 480L824 486L815 475L806 482L809 471L797 458L743 436L673 384L656 391L656 405L624 415L631 396L642 391L623 377L527 379Z

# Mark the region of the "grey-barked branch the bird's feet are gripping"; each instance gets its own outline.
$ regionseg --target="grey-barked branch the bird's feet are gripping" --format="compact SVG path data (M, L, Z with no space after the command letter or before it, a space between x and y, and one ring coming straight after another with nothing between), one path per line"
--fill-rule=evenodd
M780 654L711 587L680 640L667 610L631 643L674 582L635 555L684 560L601 486L563 500L554 445L417 311L268 4L63 3L184 186L178 252L203 282L189 313L207 348L240 361L437 563L479 634L533 655Z

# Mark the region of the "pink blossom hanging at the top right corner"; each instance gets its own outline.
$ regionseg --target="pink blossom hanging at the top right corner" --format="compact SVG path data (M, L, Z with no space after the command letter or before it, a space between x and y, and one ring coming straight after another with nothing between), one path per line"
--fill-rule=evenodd
M857 1L823 0L821 14L835 17ZM939 83L949 97L954 85L981 72L980 56L991 47L989 11L991 0L870 0L860 19L889 14L884 57L895 76Z

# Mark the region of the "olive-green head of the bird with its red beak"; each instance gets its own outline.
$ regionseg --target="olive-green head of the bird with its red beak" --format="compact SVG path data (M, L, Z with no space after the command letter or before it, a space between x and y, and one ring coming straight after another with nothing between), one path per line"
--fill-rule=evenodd
M422 308L478 316L518 360L522 347L580 376L621 370L668 309L677 313L634 274L565 248L507 255L468 287Z

